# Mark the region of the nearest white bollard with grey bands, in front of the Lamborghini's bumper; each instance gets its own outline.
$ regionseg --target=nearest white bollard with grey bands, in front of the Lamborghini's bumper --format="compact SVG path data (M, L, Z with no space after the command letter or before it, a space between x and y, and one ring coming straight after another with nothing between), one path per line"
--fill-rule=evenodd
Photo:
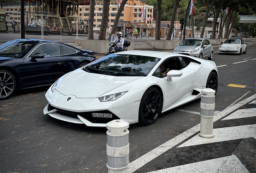
M128 173L129 123L113 120L107 123L107 168L108 173Z

